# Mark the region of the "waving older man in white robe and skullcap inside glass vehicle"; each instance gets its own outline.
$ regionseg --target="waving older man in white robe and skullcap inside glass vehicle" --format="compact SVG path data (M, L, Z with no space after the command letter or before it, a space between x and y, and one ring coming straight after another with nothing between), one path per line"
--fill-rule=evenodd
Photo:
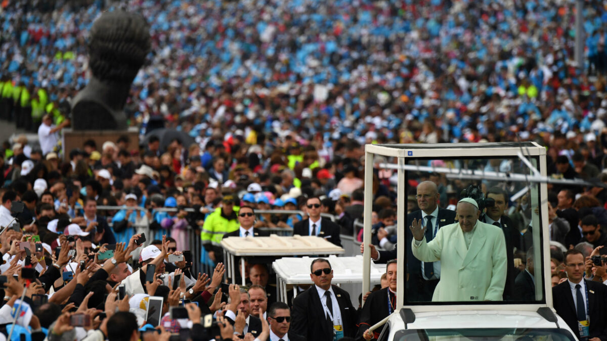
M506 240L497 226L478 220L472 198L457 204L458 223L444 226L427 241L426 226L414 219L413 255L422 262L441 261L441 280L433 302L501 301L506 285Z

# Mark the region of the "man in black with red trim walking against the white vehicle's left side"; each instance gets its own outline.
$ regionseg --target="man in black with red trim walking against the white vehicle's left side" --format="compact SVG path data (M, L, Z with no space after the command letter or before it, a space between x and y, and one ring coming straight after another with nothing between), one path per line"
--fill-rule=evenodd
M365 340L378 339L383 327L375 329L373 333L367 333L367 330L392 314L396 308L396 260L388 260L385 269L388 286L384 289L371 292L368 295L365 304L362 306L361 317L358 323L358 333L356 339Z

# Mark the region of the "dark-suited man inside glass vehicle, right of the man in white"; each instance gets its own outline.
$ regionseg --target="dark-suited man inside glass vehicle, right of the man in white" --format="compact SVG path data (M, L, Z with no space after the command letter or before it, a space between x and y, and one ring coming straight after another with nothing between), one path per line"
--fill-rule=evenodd
M504 215L508 202L506 191L500 187L491 187L487 191L487 198L495 201L495 204L487 208L486 214L483 215L481 221L483 223L495 225L501 228L506 238L506 258L507 258L507 274L506 286L504 286L504 300L512 300L512 291L514 291L514 280L517 278L518 271L514 267L514 248L520 249L521 234L514 228L510 218Z

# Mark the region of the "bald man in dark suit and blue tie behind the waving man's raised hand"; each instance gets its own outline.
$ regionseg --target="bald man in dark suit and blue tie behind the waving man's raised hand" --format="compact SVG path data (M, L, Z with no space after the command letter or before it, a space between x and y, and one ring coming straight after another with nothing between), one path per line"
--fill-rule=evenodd
M411 226L413 220L421 221L426 229L426 240L432 240L436 233L443 227L455 221L455 212L438 207L440 194L436 184L432 181L423 181L417 186L417 203L419 209L407 215L407 224ZM407 229L407 245L413 240L411 231ZM379 241L382 246L382 241ZM371 259L376 263L386 263L396 258L396 247L390 251L377 251L375 246L371 248ZM363 251L361 245L361 253ZM441 278L440 262L419 262L413 257L411 248L407 248L407 300L409 302L427 302L432 299L432 294Z

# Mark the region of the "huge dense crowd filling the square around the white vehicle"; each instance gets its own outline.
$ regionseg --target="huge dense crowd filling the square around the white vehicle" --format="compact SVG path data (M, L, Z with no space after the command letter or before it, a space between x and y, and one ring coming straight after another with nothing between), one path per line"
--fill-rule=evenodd
M125 107L129 125L140 141L161 125L195 143L150 137L129 149L138 141L123 136L63 154L70 100L87 83L90 27L119 7L141 13L151 29L151 53ZM325 321L305 302L312 298L304 286L299 302L276 302L270 266L251 263L238 274L248 289L225 285L220 246L224 235L273 229L325 234L336 245L340 234L362 241L356 221L366 143L546 146L549 176L588 181L549 185L553 284L571 272L567 256L578 254L564 255L569 248L583 255L576 270L605 282L605 263L589 261L607 252L607 10L585 2L586 52L577 65L573 8L566 0L2 2L0 119L37 132L38 142L21 135L0 154L0 226L8 227L0 234L0 309L23 312L0 323L0 338L168 340L183 330L192 340L235 332L249 340L324 340L330 329L308 325L338 318L342 333L334 335L376 337L366 331L378 317L375 303L365 310L348 301L352 316ZM395 180L378 167L371 184L373 243L386 251L398 232ZM441 174L409 180L409 214L427 208L424 181L435 184L433 207L441 209L455 209L469 184ZM529 197L510 201L514 192L504 189L483 191L503 195L493 214L513 221L511 243L506 236L512 292L503 298L524 300L513 292L524 293L514 290L517 275L533 272L532 251L525 254L531 207ZM393 257L384 255L374 259L388 263L378 291L388 300L367 294L361 302L396 302ZM423 289L413 300L430 300L439 278L417 271L410 274L419 282L409 284ZM346 304L335 297L348 294L331 286L328 261L315 261L310 272L325 308ZM148 273L155 275L148 280ZM205 323L207 314L215 323Z

